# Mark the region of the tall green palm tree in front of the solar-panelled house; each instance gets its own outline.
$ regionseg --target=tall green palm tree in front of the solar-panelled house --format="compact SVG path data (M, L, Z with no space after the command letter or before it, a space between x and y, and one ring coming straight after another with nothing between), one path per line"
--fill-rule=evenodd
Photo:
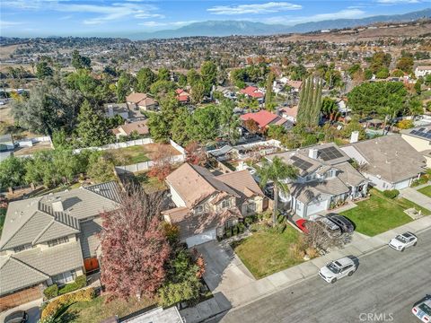
M274 209L272 211L272 225L277 223L278 191L289 193L286 179L296 179L297 170L294 166L286 164L280 157L274 157L272 162L264 159L262 166L258 169L260 186L264 188L268 181L274 183Z

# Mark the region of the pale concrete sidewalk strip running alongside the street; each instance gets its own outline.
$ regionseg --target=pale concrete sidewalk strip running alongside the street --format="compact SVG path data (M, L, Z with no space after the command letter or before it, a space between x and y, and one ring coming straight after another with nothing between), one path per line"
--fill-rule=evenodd
M401 232L419 232L429 228L431 228L431 216L424 216L416 221L401 225L398 228L383 232L374 237L358 234L356 239L349 243L344 249L334 250L325 256L314 258L303 264L287 268L259 280L244 280L244 284L241 286L238 284L222 284L221 282L213 292L222 292L233 307L239 307L251 301L256 301L270 293L284 289L289 285L297 284L305 279L315 277L318 275L321 266L324 266L330 262L330 260L346 256L360 258L365 254L386 246L391 238Z

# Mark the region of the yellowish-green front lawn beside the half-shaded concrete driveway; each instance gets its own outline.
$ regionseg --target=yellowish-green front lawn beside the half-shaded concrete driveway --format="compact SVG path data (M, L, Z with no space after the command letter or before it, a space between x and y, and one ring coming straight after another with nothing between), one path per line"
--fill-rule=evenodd
M283 233L258 231L233 243L233 249L251 274L259 279L303 262L291 250L299 235L290 225Z

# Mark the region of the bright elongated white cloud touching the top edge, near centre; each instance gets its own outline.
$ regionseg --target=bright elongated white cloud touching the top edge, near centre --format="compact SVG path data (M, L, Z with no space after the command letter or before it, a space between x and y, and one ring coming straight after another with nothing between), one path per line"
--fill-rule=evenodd
M245 13L278 13L286 10L302 9L300 4L286 2L269 2L266 4L239 4L239 5L216 5L208 8L207 12L213 14L245 14Z

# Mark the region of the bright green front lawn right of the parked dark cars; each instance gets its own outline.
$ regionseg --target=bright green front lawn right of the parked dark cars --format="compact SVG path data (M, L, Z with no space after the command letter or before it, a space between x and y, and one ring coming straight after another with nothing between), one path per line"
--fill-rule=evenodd
M356 224L356 231L368 236L374 236L411 222L409 215L403 212L410 207L421 209L423 214L430 214L428 210L405 198L390 199L375 189L371 191L369 199L357 202L356 205L355 208L341 214Z

